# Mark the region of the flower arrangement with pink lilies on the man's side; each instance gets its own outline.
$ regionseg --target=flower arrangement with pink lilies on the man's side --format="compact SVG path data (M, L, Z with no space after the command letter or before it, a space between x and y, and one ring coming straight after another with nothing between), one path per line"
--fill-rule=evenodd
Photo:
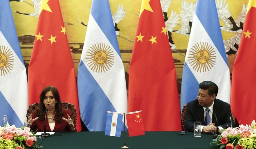
M255 149L256 148L256 123L239 125L239 127L225 129L221 135L213 139L210 144L218 145L220 149Z

